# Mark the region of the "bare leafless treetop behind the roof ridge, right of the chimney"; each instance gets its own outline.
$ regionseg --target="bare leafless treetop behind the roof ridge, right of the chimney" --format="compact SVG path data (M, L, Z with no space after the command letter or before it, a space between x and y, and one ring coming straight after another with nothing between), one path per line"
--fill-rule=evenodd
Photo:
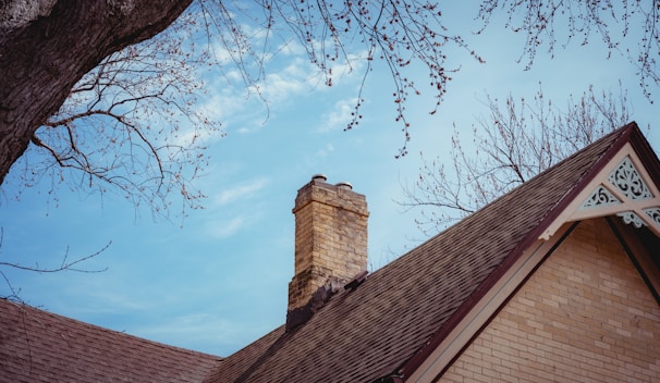
M486 96L489 116L472 126L472 140L461 137L465 128L454 124L452 162L423 157L419 176L404 186L406 209L418 209L415 221L425 233L478 210L497 197L552 166L576 150L630 122L626 94L620 89L597 92L592 87L560 109L543 97L531 101L512 96L500 101Z

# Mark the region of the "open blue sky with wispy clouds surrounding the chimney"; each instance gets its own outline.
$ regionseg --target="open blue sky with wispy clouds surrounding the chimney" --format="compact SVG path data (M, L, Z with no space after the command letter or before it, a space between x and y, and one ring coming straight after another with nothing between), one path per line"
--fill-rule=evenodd
M524 71L524 63L516 62L520 36L497 22L486 34L470 35L466 26L476 28L474 10L457 11L447 15L450 26L463 28L487 63L456 51L450 60L461 70L435 115L428 113L435 103L428 89L420 87L423 95L411 98L408 156L394 159L403 135L394 122L387 72L371 73L364 120L343 132L357 96L359 66L325 87L293 47L269 64L264 84L269 113L227 78L210 79L200 107L222 118L227 136L207 138L210 164L198 185L208 199L205 209L191 211L183 221L154 219L148 209L121 197L68 187L58 188L56 202L48 197L48 184L24 189L16 201L11 197L15 185L4 185L0 261L57 265L65 254L82 257L112 242L85 264L108 268L102 273L10 270L12 285L26 302L48 311L227 356L284 321L293 276L291 209L296 190L313 174L350 182L367 196L369 263L377 269L425 238L414 223L418 212L405 212L395 202L403 198L402 184L414 183L420 151L448 159L453 123L468 128L488 115L485 92L531 98L541 82L546 96L563 106L569 95L579 97L590 84L597 91L616 92L621 81L634 120L643 128L650 124L648 139L660 148L653 121L658 107L644 98L626 60L616 54L606 60L599 42L583 47L573 41L553 60L540 52L535 66ZM0 294L7 295L1 282Z

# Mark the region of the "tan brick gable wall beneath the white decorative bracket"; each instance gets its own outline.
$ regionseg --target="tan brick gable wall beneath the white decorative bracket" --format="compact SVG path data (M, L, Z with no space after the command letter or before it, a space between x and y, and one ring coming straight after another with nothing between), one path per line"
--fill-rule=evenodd
M582 222L440 381L660 382L660 308L607 222Z

